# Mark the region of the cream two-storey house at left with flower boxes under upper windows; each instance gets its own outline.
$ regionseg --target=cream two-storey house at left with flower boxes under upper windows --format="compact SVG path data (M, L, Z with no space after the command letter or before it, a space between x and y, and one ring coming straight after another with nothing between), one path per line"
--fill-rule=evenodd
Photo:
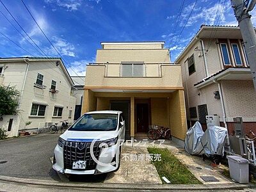
M0 127L8 136L20 129L36 132L54 122L73 120L76 97L74 83L59 58L0 58L0 83L20 91L19 114L3 116ZM31 122L25 127L26 122Z

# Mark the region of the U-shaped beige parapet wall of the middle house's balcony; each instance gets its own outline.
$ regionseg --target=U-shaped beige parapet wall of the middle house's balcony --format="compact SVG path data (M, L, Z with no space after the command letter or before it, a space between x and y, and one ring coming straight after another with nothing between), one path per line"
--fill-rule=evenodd
M161 77L105 77L105 65L88 65L85 86L182 88L180 65L162 65L161 68ZM116 73L119 73L119 70Z

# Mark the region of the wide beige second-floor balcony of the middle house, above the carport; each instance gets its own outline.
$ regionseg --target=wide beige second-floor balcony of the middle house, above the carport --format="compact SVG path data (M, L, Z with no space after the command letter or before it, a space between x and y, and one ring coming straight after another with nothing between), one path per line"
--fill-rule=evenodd
M143 72L134 73L128 69L131 76L124 76L121 63L90 63L86 68L85 87L94 88L145 88L174 89L182 88L180 65L174 63L143 63ZM127 74L127 72L125 72ZM135 74L135 76L134 76ZM138 76L138 74L140 76Z

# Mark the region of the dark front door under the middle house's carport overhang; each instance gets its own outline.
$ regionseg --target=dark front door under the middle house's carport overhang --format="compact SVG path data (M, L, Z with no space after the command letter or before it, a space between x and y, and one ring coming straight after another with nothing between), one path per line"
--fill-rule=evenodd
M148 131L148 104L136 105L137 132Z

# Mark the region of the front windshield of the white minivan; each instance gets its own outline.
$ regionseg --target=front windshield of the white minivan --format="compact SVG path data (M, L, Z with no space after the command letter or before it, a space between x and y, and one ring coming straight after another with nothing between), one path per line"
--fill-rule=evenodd
M85 114L69 131L115 131L117 115L106 113Z

